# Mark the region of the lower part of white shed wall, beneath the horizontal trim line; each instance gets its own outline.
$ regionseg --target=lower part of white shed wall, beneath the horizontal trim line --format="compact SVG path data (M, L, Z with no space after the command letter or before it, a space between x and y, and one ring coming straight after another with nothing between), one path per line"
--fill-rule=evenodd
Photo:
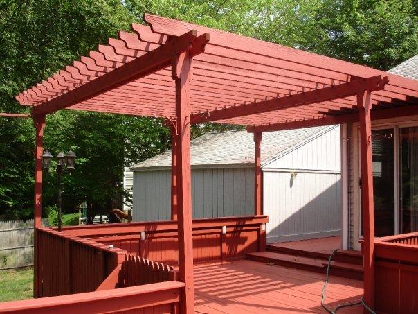
M266 171L267 241L283 242L340 234L340 174Z

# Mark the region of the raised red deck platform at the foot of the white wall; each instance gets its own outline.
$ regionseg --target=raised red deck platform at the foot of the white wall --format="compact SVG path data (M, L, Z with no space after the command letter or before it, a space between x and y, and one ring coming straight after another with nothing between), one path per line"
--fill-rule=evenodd
M340 237L331 236L329 238L313 238L301 241L271 243L270 245L276 247L287 247L290 249L301 250L305 252L318 252L330 254L335 249L340 248Z

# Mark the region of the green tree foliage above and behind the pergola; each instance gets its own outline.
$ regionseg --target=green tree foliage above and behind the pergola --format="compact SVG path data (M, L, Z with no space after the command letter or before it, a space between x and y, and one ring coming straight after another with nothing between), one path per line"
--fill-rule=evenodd
M144 12L387 70L418 51L417 0L0 0L0 112L28 112L14 96L87 55ZM34 128L0 118L0 215L33 207ZM63 178L66 210L87 201L105 209L122 191L122 171L170 147L159 119L64 110L48 116L44 147L70 148L76 170ZM205 123L199 136L225 125ZM44 179L44 205L56 177Z

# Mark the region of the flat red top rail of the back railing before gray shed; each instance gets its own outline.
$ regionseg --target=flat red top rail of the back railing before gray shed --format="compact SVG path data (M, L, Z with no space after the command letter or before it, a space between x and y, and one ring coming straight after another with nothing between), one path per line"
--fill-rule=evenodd
M221 218L203 218L193 220L193 229L205 229L214 227L232 227L240 225L260 225L267 223L268 216L239 216ZM64 227L64 232L74 236L106 236L111 234L139 234L140 232L176 231L175 220L138 222L138 223L116 223L106 225L83 225L75 227Z

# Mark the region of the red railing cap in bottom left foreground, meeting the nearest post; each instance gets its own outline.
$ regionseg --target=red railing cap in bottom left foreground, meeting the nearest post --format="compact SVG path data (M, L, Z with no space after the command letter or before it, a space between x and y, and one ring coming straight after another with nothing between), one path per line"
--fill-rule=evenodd
M10 311L30 311L30 313L42 313L42 311L65 309L65 313L80 310L80 305L84 309L93 311L93 308L107 311L123 311L129 309L129 306L152 306L154 297L161 299L161 304L178 302L179 293L163 295L173 290L179 290L185 286L179 281L164 281L157 284L148 284L143 286L133 286L120 289L94 291L91 293L77 293L74 295L60 295L57 297L44 297L39 299L28 299L22 301L4 302L1 304L0 313ZM147 298L146 295L154 295L153 298ZM152 299L152 300L151 300ZM62 313L62 312L61 312Z

